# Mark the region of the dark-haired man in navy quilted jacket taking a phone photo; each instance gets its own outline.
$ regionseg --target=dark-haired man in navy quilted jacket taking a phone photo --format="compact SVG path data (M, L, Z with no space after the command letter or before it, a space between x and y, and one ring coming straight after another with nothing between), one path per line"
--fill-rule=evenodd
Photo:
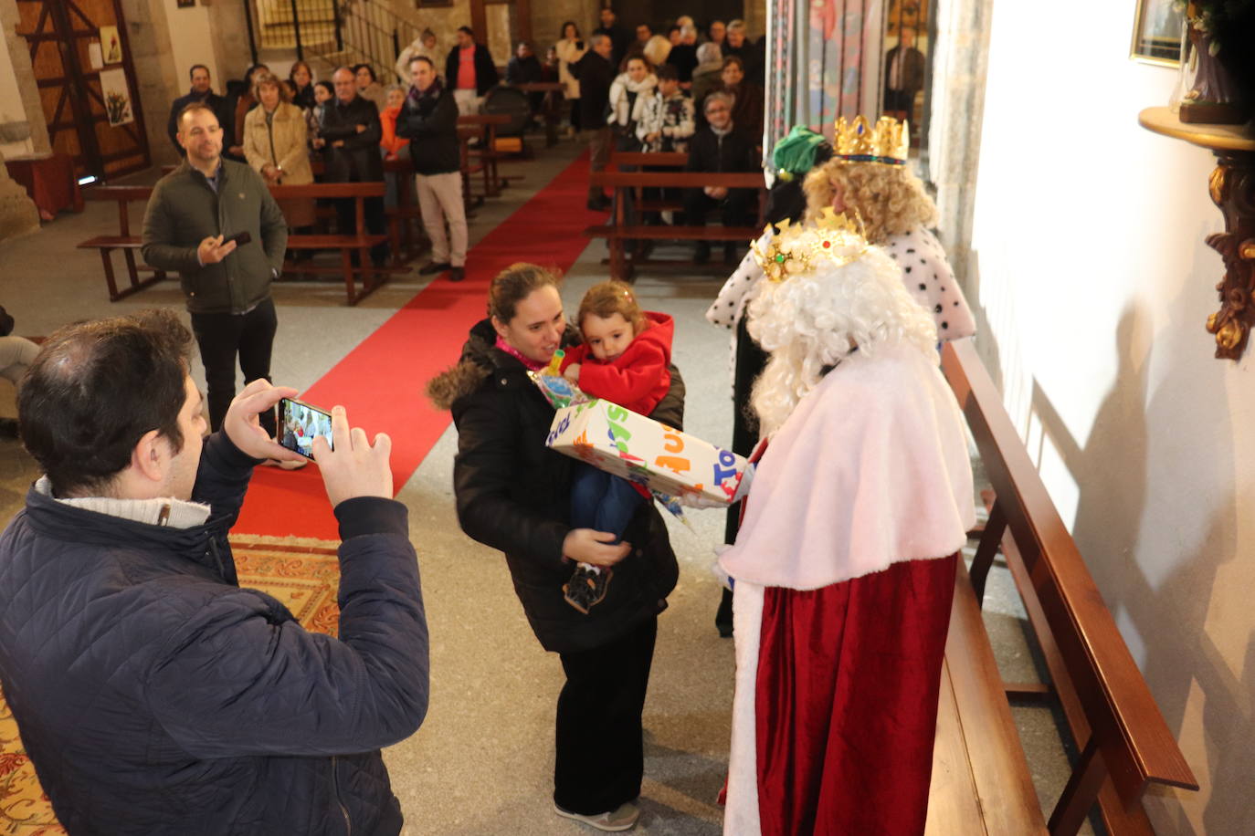
M0 535L0 682L72 833L272 836L402 827L379 748L428 698L428 634L389 452L333 411L314 442L340 521L339 638L241 589L227 531L254 465L292 457L264 380L202 439L191 335L168 311L49 337L19 395L45 475Z

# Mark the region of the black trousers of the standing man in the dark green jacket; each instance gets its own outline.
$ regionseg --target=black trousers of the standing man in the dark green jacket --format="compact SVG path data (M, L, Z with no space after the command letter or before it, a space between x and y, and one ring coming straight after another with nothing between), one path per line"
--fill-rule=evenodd
M270 352L275 345L279 318L275 302L270 298L247 313L193 313L192 333L201 347L205 363L205 382L208 386L210 429L222 426L231 399L235 397L235 365L240 356L243 382L259 377L270 380ZM275 412L264 412L261 426L275 436Z

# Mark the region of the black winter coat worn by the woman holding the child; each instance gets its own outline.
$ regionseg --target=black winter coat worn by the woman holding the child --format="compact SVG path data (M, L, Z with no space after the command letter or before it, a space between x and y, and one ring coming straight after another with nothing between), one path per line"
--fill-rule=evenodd
M545 446L553 407L518 360L494 348L488 320L471 330L462 360L429 391L452 406L458 427L453 489L458 521L471 538L506 553L515 592L546 651L600 647L666 608L679 567L654 503L641 503L624 540L631 553L615 565L605 599L587 615L562 598L575 564L562 558L571 530L574 459ZM671 389L651 417L680 427L684 381L671 366Z

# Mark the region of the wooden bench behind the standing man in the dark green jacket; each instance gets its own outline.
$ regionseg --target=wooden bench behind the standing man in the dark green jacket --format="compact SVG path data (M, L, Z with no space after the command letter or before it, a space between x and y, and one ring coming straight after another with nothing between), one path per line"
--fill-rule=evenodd
M366 198L383 197L384 183L309 183L305 185L271 185L270 193L276 201L286 199L351 199L356 221L356 234L289 234L289 251L336 251L340 253L340 264L336 267L319 267L309 263L285 263L284 269L299 271L301 273L333 273L343 274L345 283L345 298L349 305L356 305L363 297L387 281L395 268L379 268L369 263L371 247L385 243L388 236L368 234L365 229L365 201ZM143 244L139 236L131 234L128 224L127 204L144 201L147 203L152 194L151 185L100 185L88 189L87 198L95 201L117 201L119 204L119 236L97 236L79 243L80 248L100 249L104 259L105 282L109 286L109 301L117 302L119 298L143 290L166 277L162 271L156 271L153 278L138 281L138 269L156 269L152 267L139 267L134 263L134 252ZM131 271L131 287L118 291L113 274L113 264L109 253L113 249L123 249L127 256L127 267ZM353 263L354 257L359 264ZM361 280L361 291L356 288L356 280Z

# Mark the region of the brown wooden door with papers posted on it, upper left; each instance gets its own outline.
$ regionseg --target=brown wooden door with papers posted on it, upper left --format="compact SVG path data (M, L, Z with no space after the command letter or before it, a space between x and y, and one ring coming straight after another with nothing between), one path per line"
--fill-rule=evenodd
M18 11L53 150L73 157L79 177L104 180L148 168L120 1L18 0Z

